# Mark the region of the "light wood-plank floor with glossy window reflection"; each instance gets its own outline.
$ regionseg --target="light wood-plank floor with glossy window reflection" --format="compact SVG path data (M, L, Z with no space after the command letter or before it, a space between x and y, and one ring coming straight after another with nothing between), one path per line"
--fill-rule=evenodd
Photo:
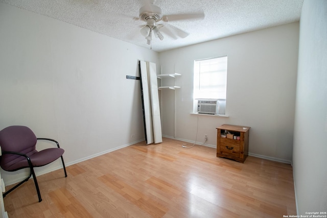
M182 141L136 143L38 176L4 198L9 217L283 217L296 214L292 167L244 163ZM46 166L45 166L46 167ZM6 187L9 188L9 187Z

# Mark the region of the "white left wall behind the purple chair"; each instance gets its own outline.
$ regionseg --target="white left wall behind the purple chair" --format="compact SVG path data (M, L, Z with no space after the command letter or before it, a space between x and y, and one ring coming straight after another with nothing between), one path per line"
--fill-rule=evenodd
M140 84L126 75L156 52L3 3L0 39L0 129L57 139L67 165L144 139ZM7 185L15 174L2 172Z

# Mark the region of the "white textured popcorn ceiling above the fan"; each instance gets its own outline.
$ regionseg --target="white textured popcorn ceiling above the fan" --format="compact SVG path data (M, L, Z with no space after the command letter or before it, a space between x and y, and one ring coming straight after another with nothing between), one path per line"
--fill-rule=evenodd
M139 33L145 22L138 17L143 1L150 0L0 0L0 2L49 16L139 46L150 46ZM152 40L161 52L253 30L298 21L303 0L157 0L163 15L203 11L201 20L171 21L190 35ZM162 21L160 21L162 23Z

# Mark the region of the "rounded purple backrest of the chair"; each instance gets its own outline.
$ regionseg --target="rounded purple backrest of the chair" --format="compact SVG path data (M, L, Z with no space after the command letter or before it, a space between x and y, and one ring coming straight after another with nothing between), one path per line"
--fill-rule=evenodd
M37 138L33 131L25 126L10 126L0 131L2 152L12 151L28 154L35 150L36 141ZM6 162L9 162L16 159L17 155L6 155L5 158Z

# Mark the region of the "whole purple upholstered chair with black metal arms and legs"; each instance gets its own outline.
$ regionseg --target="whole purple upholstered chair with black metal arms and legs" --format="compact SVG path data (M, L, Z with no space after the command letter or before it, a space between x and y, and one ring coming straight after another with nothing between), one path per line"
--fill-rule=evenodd
M37 151L35 145L37 140L49 140L57 144L58 148L49 148L42 151ZM63 162L62 154L64 150L59 147L58 141L50 138L36 138L33 131L25 126L10 126L0 131L0 146L2 149L2 156L0 156L0 166L5 171L18 171L22 168L30 168L30 175L10 190L3 194L6 197L8 193L15 188L28 181L33 175L37 196L39 202L42 201L40 189L37 184L34 167L44 166L49 164L59 157L61 157L65 177L67 177L65 164Z

